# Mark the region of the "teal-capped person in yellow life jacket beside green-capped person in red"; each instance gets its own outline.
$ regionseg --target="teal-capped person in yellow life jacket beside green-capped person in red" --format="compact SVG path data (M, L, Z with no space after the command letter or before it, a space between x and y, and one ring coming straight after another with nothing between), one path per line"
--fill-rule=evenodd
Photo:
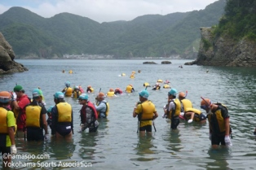
M43 141L49 138L48 127L46 122L46 107L42 103L42 90L33 89L33 102L26 110L26 129L28 141ZM43 129L45 135L43 135Z

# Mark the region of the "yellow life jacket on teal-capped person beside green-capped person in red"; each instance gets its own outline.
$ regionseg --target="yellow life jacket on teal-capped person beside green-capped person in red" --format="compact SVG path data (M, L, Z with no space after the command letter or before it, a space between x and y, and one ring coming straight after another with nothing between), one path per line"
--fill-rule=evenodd
M42 107L29 105L26 107L26 126L40 128L40 114Z

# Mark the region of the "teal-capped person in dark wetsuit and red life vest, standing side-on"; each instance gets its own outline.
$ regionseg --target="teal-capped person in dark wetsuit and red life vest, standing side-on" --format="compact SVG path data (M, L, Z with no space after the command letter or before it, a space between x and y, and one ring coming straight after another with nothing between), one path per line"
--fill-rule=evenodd
M81 94L79 96L79 103L82 105L80 110L81 117L81 129L79 132L85 131L85 129L89 129L89 133L97 132L99 122L98 122L98 113L95 109L95 106L88 100L87 94Z

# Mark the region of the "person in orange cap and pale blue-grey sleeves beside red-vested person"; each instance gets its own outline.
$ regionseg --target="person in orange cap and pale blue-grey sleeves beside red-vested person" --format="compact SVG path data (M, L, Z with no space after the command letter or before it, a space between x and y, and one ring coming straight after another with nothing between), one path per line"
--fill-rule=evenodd
M95 108L98 113L98 118L107 118L108 116L109 105L104 98L105 98L105 94L102 92L100 92L95 98L97 101L95 104Z

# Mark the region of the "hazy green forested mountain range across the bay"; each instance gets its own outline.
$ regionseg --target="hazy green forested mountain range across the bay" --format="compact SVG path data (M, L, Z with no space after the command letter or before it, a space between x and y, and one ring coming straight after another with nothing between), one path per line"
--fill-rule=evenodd
M225 0L219 0L201 11L143 15L102 24L69 13L46 19L11 7L0 15L0 32L20 59L62 58L63 54L110 54L117 58L188 55L198 49L200 27L217 24L225 5Z

